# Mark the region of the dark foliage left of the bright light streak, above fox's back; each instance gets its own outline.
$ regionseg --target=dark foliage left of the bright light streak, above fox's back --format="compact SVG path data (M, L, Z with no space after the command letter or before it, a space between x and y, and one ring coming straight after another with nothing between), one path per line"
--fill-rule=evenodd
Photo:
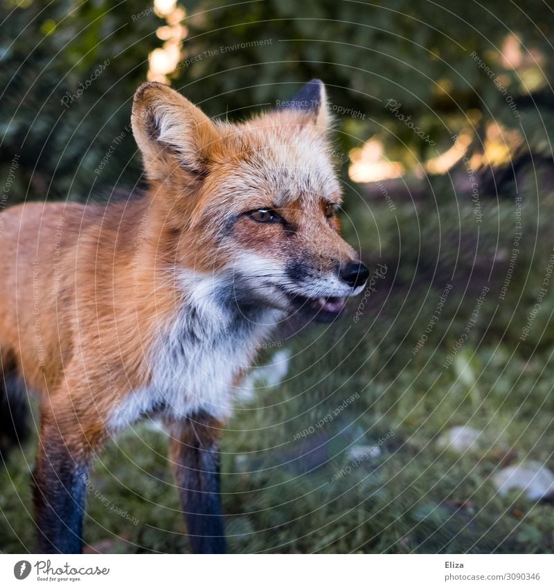
M23 172L12 202L67 195L84 200L118 184L120 175L133 186L141 165L125 127L148 53L160 44L155 33L162 21L152 10L132 17L149 3L58 0L21 7L1 0L0 6L0 162L7 176L19 154ZM122 133L118 164L96 174Z

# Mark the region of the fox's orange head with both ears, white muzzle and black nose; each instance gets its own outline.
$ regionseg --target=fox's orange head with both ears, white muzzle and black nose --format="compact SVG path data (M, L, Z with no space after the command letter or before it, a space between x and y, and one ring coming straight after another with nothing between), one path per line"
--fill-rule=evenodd
M202 283L201 296L329 321L361 292L368 269L339 235L329 126L319 80L240 124L212 121L157 82L136 91L152 208L170 263Z

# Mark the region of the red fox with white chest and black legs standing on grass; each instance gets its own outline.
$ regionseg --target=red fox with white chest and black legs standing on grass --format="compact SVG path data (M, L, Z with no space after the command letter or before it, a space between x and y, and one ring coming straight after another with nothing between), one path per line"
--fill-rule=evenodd
M334 321L369 271L339 234L321 80L239 123L145 82L131 126L139 195L1 215L1 422L19 442L37 395L39 553L82 552L93 458L144 418L168 432L190 552L224 553L219 447L242 377L283 321Z

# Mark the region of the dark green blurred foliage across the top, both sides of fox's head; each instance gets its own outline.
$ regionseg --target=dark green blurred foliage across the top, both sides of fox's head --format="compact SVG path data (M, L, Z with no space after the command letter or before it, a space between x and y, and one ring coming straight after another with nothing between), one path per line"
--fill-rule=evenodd
M476 132L479 150L491 120L517 128L533 150L550 152L552 65L545 55L554 15L540 3L513 10L500 1L473 3L471 10L410 0L182 5L188 37L172 84L211 116L243 118L274 107L301 82L322 78L343 154L377 135L390 159L417 167L465 127ZM21 154L19 199L87 199L116 184L132 188L141 181L141 164L128 131L117 145L118 165L95 170L128 125L148 55L161 46L156 30L163 20L152 4L1 0L0 8L0 166L6 171ZM508 33L529 51L515 69L501 60ZM105 60L109 65L95 77ZM521 116L490 73L501 78ZM87 80L82 95L62 105L66 92ZM397 114L411 117L435 144L391 112L391 99L401 105Z

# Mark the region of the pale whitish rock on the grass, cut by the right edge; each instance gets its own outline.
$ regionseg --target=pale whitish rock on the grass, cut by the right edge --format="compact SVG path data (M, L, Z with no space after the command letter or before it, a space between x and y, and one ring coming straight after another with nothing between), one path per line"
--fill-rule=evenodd
M518 465L504 467L492 475L499 495L510 490L525 490L529 500L538 500L554 495L554 474L540 461L522 461Z

